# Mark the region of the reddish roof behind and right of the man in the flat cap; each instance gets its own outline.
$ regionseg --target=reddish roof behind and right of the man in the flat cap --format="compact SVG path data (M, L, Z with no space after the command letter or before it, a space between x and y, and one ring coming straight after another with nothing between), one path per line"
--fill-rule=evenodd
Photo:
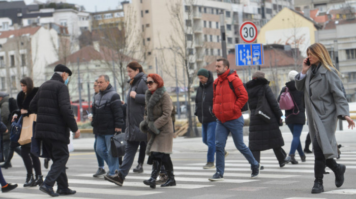
M106 47L100 47L100 52L96 51L93 46L85 46L80 50L74 52L73 54L67 57L68 63L77 63L77 58L79 58L79 62L90 62L93 60L102 60L102 61L110 61L112 60L112 54L114 54L114 59L117 59L117 55L113 53L110 49ZM124 61L134 61L135 59L126 55L120 56ZM137 60L136 60L137 61ZM63 63L64 60L58 60L54 63L49 64L50 67Z

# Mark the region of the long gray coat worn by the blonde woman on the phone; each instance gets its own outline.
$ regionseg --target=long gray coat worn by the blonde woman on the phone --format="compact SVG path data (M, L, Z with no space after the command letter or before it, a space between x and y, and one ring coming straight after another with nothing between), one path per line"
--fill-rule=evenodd
M310 69L301 80L301 74L296 75L295 87L304 91L311 141L316 136L325 158L335 158L338 157L335 139L337 119L349 115L348 103L336 71L328 71L321 65L312 80L311 74Z

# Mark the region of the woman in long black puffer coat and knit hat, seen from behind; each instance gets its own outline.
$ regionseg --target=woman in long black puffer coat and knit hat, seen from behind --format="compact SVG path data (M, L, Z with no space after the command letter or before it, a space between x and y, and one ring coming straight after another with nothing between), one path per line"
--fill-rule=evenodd
M284 167L284 165L290 161L290 157L287 156L282 149L284 141L279 126L282 125L281 116L283 114L269 83L261 71L256 71L252 75L252 80L246 83L247 93L249 95L248 105L251 111L249 148L258 162L260 162L261 151L273 149L279 166ZM275 117L272 117L270 123L265 122L260 119L259 116L255 115L258 96L262 96L263 93L275 115Z

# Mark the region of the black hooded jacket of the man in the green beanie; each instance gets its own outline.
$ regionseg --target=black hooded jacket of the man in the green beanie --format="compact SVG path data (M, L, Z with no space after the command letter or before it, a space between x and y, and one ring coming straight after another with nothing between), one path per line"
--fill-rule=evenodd
M199 87L195 97L195 115L198 116L200 123L209 123L216 121L213 113L214 97L214 78L213 73L209 71L209 78L205 84L199 82Z

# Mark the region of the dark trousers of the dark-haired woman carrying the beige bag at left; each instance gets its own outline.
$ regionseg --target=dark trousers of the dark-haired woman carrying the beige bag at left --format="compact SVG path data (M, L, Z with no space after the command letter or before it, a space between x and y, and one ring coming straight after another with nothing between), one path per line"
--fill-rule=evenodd
M42 175L40 158L31 153L31 143L21 146L21 157L27 174L32 174L32 168L34 168L36 175Z

